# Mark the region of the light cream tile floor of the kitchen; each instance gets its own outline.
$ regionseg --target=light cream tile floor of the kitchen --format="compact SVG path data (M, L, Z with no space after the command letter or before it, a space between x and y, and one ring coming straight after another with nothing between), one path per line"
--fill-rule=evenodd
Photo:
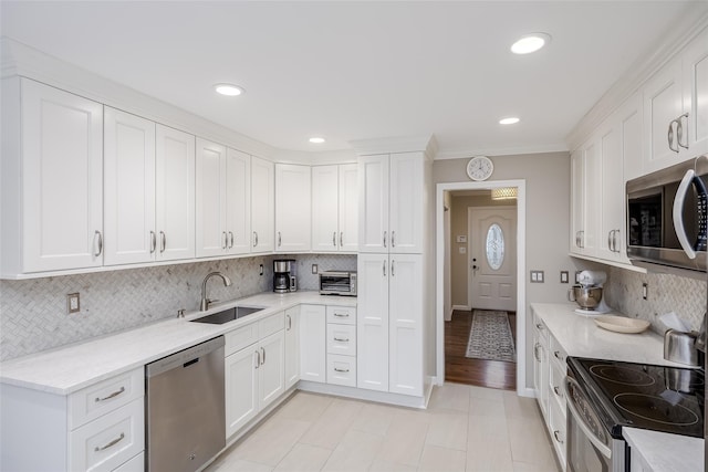
M558 472L534 399L459 384L427 410L299 391L206 472Z

